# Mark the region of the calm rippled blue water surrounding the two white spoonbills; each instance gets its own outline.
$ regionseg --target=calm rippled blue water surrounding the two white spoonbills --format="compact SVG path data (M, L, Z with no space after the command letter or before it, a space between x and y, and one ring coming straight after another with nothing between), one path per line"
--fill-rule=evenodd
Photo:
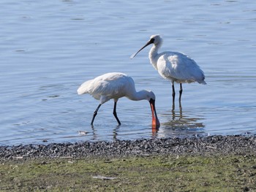
M0 145L85 140L256 134L254 1L10 1L0 3ZM170 82L149 64L149 39L186 53L207 85L184 85L172 108ZM162 123L151 131L147 101L98 101L78 86L124 72L157 95ZM178 84L176 85L178 92ZM79 134L85 131L87 134Z

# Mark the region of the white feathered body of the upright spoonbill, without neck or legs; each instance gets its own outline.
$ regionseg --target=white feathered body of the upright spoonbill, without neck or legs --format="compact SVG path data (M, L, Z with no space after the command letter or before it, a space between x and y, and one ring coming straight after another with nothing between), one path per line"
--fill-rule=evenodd
M192 58L183 53L160 53L157 60L157 69L159 74L168 80L206 84L203 71Z

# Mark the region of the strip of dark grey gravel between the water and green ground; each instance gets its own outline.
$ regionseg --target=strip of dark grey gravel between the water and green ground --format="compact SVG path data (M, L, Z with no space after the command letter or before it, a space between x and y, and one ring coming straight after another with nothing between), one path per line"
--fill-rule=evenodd
M0 160L15 158L217 154L256 154L256 136L211 136L0 146Z

